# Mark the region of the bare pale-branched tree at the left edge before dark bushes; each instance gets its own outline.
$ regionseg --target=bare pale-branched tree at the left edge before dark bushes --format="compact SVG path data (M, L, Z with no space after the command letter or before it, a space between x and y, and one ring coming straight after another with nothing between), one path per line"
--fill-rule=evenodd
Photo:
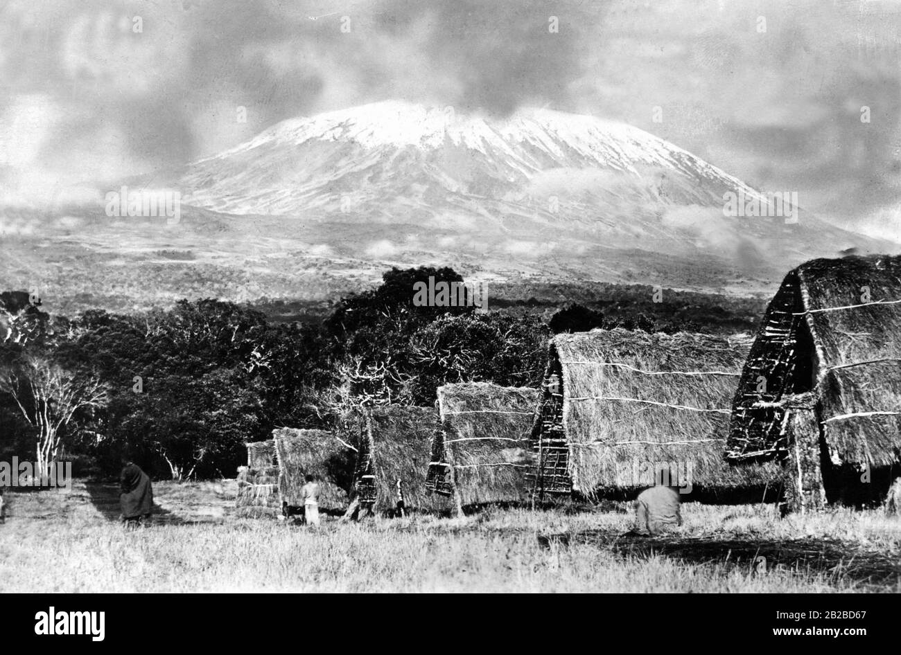
M35 431L38 475L50 473L66 430L79 414L105 407L105 385L92 374L78 374L50 360L26 354L0 373L0 391L9 394Z

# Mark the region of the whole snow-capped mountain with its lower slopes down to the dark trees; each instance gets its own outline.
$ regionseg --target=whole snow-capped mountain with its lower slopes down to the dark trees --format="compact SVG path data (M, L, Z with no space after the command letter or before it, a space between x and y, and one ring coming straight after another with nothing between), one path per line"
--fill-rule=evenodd
M725 216L724 193L760 195L645 131L549 110L369 104L121 184L179 191L180 220L111 218L103 203L0 212L17 235L0 257L8 284L50 279L85 307L324 301L391 266L450 265L523 298L535 284L596 281L747 293L815 256L894 249L803 211Z

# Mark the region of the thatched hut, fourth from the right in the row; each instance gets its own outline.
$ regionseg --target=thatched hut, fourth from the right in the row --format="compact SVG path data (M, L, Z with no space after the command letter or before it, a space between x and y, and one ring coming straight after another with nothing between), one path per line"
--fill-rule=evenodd
M361 507L381 513L395 510L399 480L406 509L450 508L446 498L433 496L425 489L432 437L438 430L435 408L360 408L345 419L345 426L348 440L358 448L354 491Z

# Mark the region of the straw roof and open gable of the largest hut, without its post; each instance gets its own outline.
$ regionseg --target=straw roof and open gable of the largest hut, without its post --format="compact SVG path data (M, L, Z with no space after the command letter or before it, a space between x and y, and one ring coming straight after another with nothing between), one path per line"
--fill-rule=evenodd
M789 272L742 372L730 457L784 456L783 401L813 390L834 463L901 462L899 327L901 256L815 259Z

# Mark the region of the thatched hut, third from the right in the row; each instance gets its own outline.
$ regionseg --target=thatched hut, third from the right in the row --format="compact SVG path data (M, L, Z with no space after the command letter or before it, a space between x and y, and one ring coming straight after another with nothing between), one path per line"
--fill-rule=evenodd
M529 433L538 391L488 382L438 389L441 430L432 444L429 487L468 505L529 498Z

